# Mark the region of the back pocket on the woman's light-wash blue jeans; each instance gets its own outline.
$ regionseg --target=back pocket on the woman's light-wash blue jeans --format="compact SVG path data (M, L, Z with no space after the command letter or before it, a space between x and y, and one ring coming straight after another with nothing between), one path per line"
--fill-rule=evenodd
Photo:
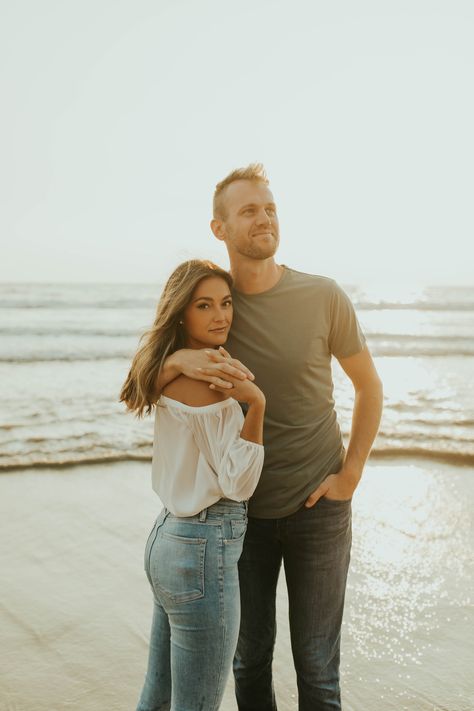
M163 531L150 559L155 589L175 603L204 597L206 543L205 538L185 538Z

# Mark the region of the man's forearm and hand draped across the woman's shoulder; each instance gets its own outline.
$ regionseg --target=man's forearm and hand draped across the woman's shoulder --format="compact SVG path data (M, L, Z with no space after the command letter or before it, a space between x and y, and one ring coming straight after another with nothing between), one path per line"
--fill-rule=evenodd
M156 397L178 375L186 375L193 380L205 380L219 388L230 389L232 383L226 376L240 380L254 380L250 370L236 358L232 358L224 348L193 349L182 348L168 356L163 364L161 373L156 380Z

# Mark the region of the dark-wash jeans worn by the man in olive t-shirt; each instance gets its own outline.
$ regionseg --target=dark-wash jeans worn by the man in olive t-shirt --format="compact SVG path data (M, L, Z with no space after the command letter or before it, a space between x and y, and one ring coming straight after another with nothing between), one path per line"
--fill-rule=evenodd
M277 708L272 658L282 560L299 711L341 708L339 650L350 548L350 501L323 498L285 518L249 518L239 562L242 620L234 659L239 711Z

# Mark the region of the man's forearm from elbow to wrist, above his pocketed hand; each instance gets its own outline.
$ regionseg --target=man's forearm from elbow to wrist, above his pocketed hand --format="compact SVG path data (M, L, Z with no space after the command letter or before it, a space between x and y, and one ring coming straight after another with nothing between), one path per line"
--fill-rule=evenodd
M352 426L343 474L357 484L377 435L382 416L383 389L376 380L355 393Z

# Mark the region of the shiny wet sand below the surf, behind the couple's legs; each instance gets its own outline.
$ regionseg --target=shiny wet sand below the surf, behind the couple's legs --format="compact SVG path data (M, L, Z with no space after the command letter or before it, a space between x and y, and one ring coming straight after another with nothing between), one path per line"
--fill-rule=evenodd
M375 460L354 497L345 711L474 708L474 471ZM145 673L143 547L159 502L137 462L0 475L2 711L130 711ZM275 685L297 709L284 577ZM235 711L229 681L222 711Z

